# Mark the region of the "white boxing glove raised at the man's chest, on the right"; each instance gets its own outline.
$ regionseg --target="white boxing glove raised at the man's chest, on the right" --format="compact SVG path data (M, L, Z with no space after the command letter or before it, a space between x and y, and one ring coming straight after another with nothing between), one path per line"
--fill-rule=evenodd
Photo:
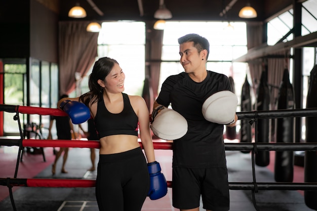
M232 124L234 123L237 102L237 96L233 92L218 91L203 103L203 116L209 122L221 125Z

